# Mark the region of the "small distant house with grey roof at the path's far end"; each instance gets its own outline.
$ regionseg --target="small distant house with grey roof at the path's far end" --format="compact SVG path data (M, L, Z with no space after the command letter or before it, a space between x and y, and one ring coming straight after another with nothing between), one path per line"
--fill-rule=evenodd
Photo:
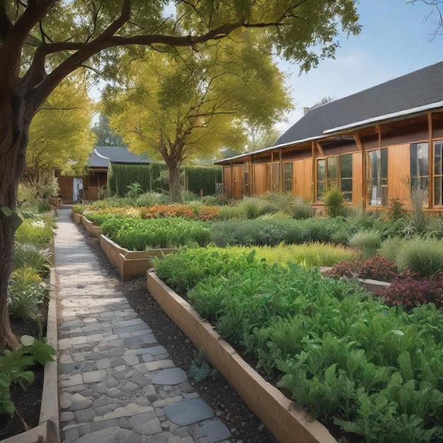
M57 178L59 197L63 202L98 200L100 189L107 187L109 167L115 163L149 166L149 159L128 151L125 146L98 146L89 156L86 176Z

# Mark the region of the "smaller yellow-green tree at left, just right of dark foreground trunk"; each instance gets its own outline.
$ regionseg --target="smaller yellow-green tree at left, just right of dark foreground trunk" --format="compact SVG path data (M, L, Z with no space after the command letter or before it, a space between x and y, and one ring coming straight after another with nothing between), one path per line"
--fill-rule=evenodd
M27 178L38 190L53 176L81 173L93 147L89 129L93 106L84 82L66 79L35 114L26 150ZM40 196L42 192L40 192Z

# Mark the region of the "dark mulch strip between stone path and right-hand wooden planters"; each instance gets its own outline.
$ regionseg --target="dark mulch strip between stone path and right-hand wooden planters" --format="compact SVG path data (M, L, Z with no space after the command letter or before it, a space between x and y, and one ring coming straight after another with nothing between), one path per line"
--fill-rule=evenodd
M81 229L81 231L83 230ZM83 233L86 236L84 231ZM105 275L110 281L117 284L132 309L137 311L140 318L153 330L156 339L168 350L174 364L188 372L192 360L197 357L198 352L147 292L146 277L142 276L131 282L121 282L117 271L110 265L101 250L98 240L91 237L86 237L86 239L88 245L96 253ZM229 427L232 441L241 440L243 443L272 443L276 441L219 373L215 372L200 382L190 380L190 384Z

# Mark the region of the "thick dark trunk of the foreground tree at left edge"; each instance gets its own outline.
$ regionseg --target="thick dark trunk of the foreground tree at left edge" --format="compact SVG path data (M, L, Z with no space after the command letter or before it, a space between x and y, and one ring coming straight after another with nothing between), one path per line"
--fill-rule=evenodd
M25 146L28 127L21 130L5 127L8 120L0 110L2 133L0 140L0 207L16 209L18 183L25 167ZM11 120L9 120L11 123ZM12 126L12 125L11 125ZM26 126L26 127L25 127ZM13 228L4 212L0 212L0 347L18 347L8 316L8 282L13 260Z

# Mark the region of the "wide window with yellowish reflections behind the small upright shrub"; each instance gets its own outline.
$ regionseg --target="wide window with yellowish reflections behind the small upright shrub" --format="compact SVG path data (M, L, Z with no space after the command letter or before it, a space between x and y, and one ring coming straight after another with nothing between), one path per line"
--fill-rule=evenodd
M352 154L317 161L317 200L332 188L340 189L345 199L352 201Z

